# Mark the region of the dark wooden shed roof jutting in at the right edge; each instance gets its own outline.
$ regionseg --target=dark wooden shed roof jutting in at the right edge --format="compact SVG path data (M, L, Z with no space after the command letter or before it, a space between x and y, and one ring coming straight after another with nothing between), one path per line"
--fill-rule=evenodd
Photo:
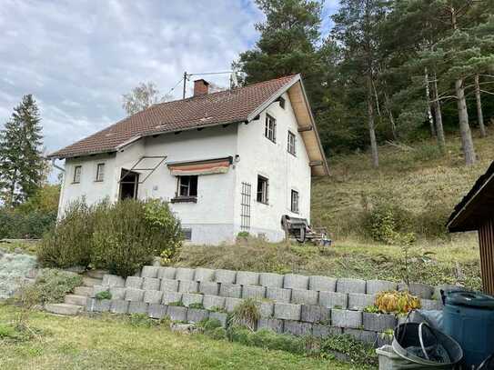
M487 219L494 218L494 162L455 206L449 216L450 232L479 230Z

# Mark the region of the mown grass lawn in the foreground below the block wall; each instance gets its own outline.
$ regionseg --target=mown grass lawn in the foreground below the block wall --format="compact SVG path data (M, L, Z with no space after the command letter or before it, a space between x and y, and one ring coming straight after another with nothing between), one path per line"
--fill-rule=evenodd
M15 309L0 305L0 323ZM0 369L358 369L321 358L178 335L164 327L139 327L124 318L62 317L35 313L39 339L12 343L0 336Z

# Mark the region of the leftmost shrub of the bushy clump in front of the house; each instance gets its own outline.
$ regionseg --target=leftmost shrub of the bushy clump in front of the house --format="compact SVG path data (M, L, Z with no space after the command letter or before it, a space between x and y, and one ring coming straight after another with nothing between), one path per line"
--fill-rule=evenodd
M66 213L47 233L38 248L38 261L45 267L87 267L91 263L94 214L83 201L66 208Z

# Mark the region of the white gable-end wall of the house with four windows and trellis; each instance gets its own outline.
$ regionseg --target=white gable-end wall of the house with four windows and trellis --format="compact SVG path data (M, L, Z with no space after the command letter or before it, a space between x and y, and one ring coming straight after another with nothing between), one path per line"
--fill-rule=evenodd
M284 237L281 228L281 216L293 215L310 219L310 183L309 158L297 131L297 118L293 112L287 94L284 94L285 108L279 103L269 105L259 115L259 119L248 125L238 126L237 185L235 201L235 230L240 231L241 184L252 185L251 233L264 233L272 241ZM273 143L265 136L266 114L277 120L277 140ZM296 135L296 155L287 152L288 129ZM257 202L257 175L269 179L268 205ZM299 194L299 213L290 210L291 190Z

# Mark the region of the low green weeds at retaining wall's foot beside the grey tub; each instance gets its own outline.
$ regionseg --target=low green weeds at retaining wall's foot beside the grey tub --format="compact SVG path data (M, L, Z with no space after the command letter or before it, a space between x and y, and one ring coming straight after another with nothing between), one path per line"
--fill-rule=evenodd
M321 344L321 351L329 353L336 351L347 355L352 363L361 365L377 365L378 355L372 345L360 342L350 335L333 335Z

